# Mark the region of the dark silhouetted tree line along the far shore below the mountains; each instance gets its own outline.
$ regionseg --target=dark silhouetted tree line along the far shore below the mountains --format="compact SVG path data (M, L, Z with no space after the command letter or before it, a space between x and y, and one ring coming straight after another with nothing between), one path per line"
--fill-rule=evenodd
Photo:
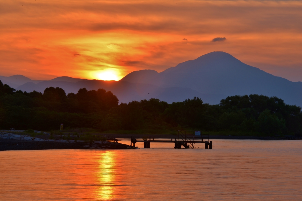
M277 97L250 94L229 96L210 105L194 97L168 104L150 100L121 103L111 91L81 88L66 95L62 88L43 93L16 91L0 81L0 128L57 130L70 128L109 130L251 131L301 135L301 107Z

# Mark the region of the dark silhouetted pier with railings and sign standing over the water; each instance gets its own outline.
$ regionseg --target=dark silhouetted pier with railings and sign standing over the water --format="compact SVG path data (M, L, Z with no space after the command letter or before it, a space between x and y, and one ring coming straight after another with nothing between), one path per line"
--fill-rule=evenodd
M199 135L196 135L199 134ZM154 140L154 138L144 139L144 140L137 140L134 137L131 137L130 139L116 139L114 138L114 141L122 141L127 140L130 141L130 146L135 147L135 144L137 142L143 142L144 148L150 148L151 143L174 143L175 149L181 149L184 147L185 149L194 149L196 148L194 145L196 143L204 143L205 149L212 149L213 148L213 142L209 140L210 133L209 131L178 131L177 138L171 138L171 140Z

